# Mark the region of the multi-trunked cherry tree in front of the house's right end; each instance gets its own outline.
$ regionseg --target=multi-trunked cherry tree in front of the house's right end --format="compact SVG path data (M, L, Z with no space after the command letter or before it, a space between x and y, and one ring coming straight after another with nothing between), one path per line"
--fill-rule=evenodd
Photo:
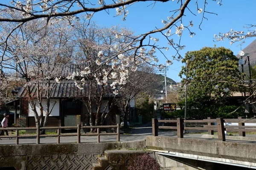
M88 85L88 96L78 96L78 99L87 107L90 125L102 125L111 108L120 99L120 96L117 99L116 95L119 95L119 91L126 85L128 74L136 71L142 61L134 59L131 51L120 53L122 49L127 48L127 44L133 42L134 33L127 28L105 28L95 23L87 26L86 20L82 20L76 22L75 30L77 47L72 62L79 63L80 72L70 74L67 79L73 79L80 89L84 88L85 83ZM113 94L109 96L108 102L104 103L105 108L102 111L105 93L109 91L113 91ZM93 102L96 102L95 113ZM109 109L106 111L108 105Z

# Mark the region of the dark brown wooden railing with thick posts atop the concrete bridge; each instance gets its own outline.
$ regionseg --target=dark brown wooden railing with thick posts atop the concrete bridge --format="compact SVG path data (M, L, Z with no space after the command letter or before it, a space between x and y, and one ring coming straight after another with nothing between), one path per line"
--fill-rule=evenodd
M158 122L163 123L177 123L177 126L158 126ZM238 123L238 126L227 126L224 125L225 122ZM203 127L184 127L183 123L207 123ZM215 125L216 123L216 125ZM244 123L256 123L256 119L202 119L202 120L184 120L178 118L177 120L157 120L152 119L152 134L153 136L158 136L158 129L175 129L177 130L177 137L183 138L183 130L208 130L208 134L213 135L214 131L218 132L218 139L220 141L225 141L225 129L229 132L239 132L239 136L245 136L245 132L256 132L256 124L254 126L244 126ZM187 125L187 124L186 124Z

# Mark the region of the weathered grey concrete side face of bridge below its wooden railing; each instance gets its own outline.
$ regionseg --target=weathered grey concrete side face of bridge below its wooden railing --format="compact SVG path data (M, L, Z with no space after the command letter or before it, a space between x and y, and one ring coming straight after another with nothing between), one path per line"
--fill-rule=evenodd
M256 163L255 142L221 142L216 139L189 139L170 138L163 136L147 136L146 146L155 150L168 150L171 152L214 157L220 161L229 159Z

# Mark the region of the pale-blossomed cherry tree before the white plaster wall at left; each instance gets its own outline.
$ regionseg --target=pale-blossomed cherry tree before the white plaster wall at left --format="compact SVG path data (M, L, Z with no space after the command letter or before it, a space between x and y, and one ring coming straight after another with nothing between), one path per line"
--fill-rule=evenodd
M6 15L21 17L8 12L3 14ZM0 22L1 66L9 71L10 79L18 81L25 89L35 123L41 127L47 125L48 116L56 103L50 102L57 84L55 77L61 75L64 64L73 53L72 36L69 34L73 27L66 22L58 18L32 20L14 29L10 35L6 32L12 29L13 23ZM45 23L48 23L47 27ZM8 42L4 40L6 36L9 36ZM33 88L36 88L35 93ZM46 108L43 108L43 102L46 102ZM37 111L36 105L40 111Z

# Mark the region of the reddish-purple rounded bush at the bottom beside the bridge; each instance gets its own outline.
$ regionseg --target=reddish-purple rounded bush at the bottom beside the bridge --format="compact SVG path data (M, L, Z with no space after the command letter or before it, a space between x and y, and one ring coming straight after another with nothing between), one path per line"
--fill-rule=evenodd
M128 167L128 170L159 170L159 164L147 153L134 159L134 164Z

